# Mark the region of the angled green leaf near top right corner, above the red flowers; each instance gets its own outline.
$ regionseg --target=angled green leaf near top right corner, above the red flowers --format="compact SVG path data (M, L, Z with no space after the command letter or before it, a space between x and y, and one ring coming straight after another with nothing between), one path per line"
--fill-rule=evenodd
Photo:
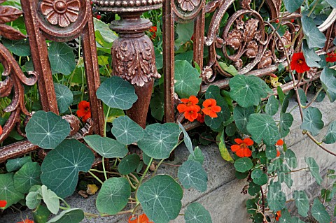
M302 15L302 29L304 38L307 40L309 48L323 48L327 40L324 34L316 27L314 20L311 17Z

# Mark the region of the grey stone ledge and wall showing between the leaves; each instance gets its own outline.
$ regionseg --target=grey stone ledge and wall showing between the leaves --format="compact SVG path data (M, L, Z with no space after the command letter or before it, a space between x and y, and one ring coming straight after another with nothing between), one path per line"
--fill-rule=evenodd
M295 101L291 101L288 111L293 109L293 127L290 129L290 135L286 137L285 141L288 145L288 148L293 150L297 154L298 158L298 167L303 168L307 165L304 162L303 157L314 157L316 162L321 167L321 173L324 175L328 168L336 169L336 158L332 157L327 152L318 148L307 136L302 134L300 129L301 120L298 108L295 108ZM315 107L319 108L323 113L323 121L325 123L325 128L322 133L316 138L321 141L325 131L328 129L328 124L332 120L336 120L336 103L330 103L328 99L325 99L323 103L314 103ZM328 149L336 152L335 145L328 145ZM249 198L246 194L241 194L241 189L247 185L246 180L237 180L235 179L235 169L232 164L223 161L221 155L218 151L216 144L209 145L206 147L201 147L204 154L204 168L208 173L209 183L207 191L204 193L197 192L195 189L185 189L183 192L183 208L181 213L184 213L186 206L193 202L202 203L202 205L209 210L212 220L214 223L244 223L251 222L248 219L248 214L246 213L246 199ZM184 146L180 146L176 149L176 159L172 162L166 161L167 164L179 165L188 158L188 150ZM166 173L172 175L176 178L178 166L172 166L162 164L159 174ZM305 189L309 194L309 198L312 199L316 197L318 192L321 191L321 187L318 186L311 177L309 171L300 171L295 172L292 175L294 180L294 185L291 189L288 189L286 185L283 185L283 188L290 199L291 194L295 189ZM325 182L323 182L325 185ZM97 195L96 195L97 196ZM66 199L67 202L73 208L83 208L85 212L97 213L97 210L94 205L95 197L90 196L88 199L81 198L78 194ZM296 213L295 206L292 203L288 203L291 211ZM330 213L333 211L335 202L328 210ZM22 213L23 216L31 216L27 211ZM111 222L111 223L126 223L127 216L116 216L116 217L100 217L94 219L85 219L83 222ZM332 220L335 222L335 218ZM1 223L12 223L19 222L20 215L18 213L10 213L5 215L0 219ZM173 223L182 223L184 222L183 216L179 216L176 220L172 221Z

